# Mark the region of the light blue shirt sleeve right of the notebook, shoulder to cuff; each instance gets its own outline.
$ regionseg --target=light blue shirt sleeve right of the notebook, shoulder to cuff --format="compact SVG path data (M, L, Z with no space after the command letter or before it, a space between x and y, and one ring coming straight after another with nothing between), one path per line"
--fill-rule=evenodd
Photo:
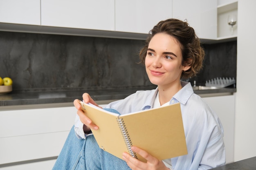
M216 113L198 96L182 108L188 154L171 159L174 170L207 170L225 164L223 127Z

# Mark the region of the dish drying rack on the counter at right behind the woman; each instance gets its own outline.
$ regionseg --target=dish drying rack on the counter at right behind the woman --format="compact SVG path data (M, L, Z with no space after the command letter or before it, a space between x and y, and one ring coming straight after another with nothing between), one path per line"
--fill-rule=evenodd
M211 79L209 81L206 81L205 86L223 88L223 87L227 87L232 84L235 84L235 83L236 83L236 80L234 79L234 77L232 79L231 79L231 77L229 77L229 78L217 77L217 78Z

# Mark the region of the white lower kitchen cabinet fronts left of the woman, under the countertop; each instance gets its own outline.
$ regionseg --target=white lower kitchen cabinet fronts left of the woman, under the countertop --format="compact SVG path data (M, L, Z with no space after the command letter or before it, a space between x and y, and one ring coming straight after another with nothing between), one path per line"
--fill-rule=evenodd
M57 157L76 116L74 106L0 110L0 167L6 163Z

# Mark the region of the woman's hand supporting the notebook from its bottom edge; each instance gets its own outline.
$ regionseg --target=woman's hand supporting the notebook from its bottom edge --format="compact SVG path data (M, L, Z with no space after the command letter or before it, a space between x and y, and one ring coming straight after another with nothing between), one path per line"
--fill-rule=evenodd
M144 163L132 157L127 152L124 152L123 159L132 170L170 170L164 165L163 161L153 157L145 150L132 146L132 151L136 152L147 160L147 162Z

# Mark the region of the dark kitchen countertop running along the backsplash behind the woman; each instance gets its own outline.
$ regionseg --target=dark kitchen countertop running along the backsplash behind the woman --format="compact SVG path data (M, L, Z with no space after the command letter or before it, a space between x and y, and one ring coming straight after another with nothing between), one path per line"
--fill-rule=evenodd
M0 106L30 105L30 104L53 104L53 103L70 103L74 99L82 99L83 93L89 93L95 101L124 99L128 95L138 90L150 90L147 88L122 88L122 89L76 89L63 91L28 91L28 92L11 92L0 94ZM216 94L216 93L234 93L236 88L218 88L211 90L194 91L198 95Z

